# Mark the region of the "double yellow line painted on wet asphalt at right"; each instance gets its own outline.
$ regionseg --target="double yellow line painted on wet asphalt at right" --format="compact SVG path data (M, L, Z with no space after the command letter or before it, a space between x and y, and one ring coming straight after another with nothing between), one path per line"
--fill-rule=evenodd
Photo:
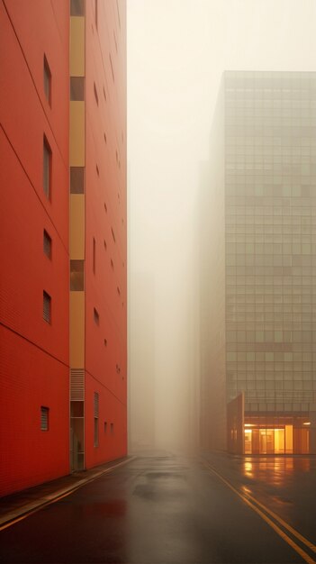
M251 509L253 509L254 511L256 511L257 514L260 515L260 517L262 519L264 519L264 521L266 521L267 524L270 525L270 527L272 527L272 529L277 532L277 534L285 541L287 542L287 544L289 544L293 550L295 550L300 556L302 556L302 559L305 560L305 562L308 562L308 564L316 564L316 561L314 559L312 559L310 557L309 554L307 554L307 552L305 552L304 550L301 549L300 546L298 546L298 544L296 544L296 542L292 541L292 539L290 539L290 537L284 532L282 531L282 529L280 529L280 527L278 527L275 523L273 523L273 521L271 521L271 519L269 519L269 517L266 516L266 514L264 514L260 509L258 509L258 507L256 505L254 505L254 503L252 503L252 501L254 501L257 505L260 505L267 514L270 514L272 516L275 516L275 519L280 523L283 524L285 528L288 531L293 532L294 536L296 536L296 538L298 538L300 541L302 541L303 544L305 544L308 548L311 548L311 550L315 550L314 545L308 541L307 539L305 539L299 532L295 531L290 525L288 525L287 523L285 523L283 521L283 519L281 519L280 517L278 517L277 515L275 515L272 511L270 511L269 509L267 509L267 507L263 504L260 504L259 502L257 502L257 499L255 499L254 497L251 496L244 496L243 494L240 494L240 492L238 491L238 489L236 489L235 487L233 487L230 482L228 482L225 478L222 478L221 474L219 474L216 470L214 470L214 468L212 468L211 466L209 466L208 464L205 464L206 468L208 468L209 470L211 470L211 472L213 474L215 474L215 476L217 476L217 478L221 479L221 481L227 486L230 487L230 489L237 494L237 496L239 496L243 502L245 502L245 504L247 504L249 507L251 507ZM250 501L250 499L252 501Z

